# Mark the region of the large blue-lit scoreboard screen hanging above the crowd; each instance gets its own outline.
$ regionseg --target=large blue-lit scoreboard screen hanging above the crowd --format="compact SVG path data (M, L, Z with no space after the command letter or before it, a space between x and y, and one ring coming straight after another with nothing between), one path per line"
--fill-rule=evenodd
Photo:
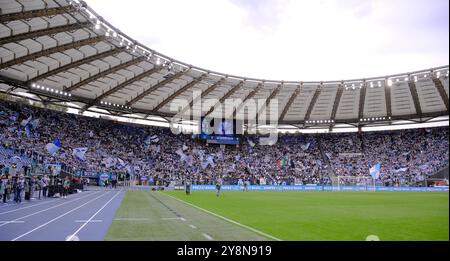
M202 118L200 139L212 144L237 145L242 134L242 122L229 119Z

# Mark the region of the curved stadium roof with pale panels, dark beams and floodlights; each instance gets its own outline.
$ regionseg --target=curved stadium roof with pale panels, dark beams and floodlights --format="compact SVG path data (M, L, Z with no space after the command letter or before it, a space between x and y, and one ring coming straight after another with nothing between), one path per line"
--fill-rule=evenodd
M449 115L449 67L337 81L250 79L198 68L128 37L78 0L0 2L0 90L114 115L171 117L198 99L278 102L277 120L308 128ZM194 99L194 91L200 92ZM171 107L178 104L177 110ZM211 101L216 101L211 103ZM195 105L198 106L198 105ZM194 107L195 107L194 106ZM244 106L233 111L248 118Z

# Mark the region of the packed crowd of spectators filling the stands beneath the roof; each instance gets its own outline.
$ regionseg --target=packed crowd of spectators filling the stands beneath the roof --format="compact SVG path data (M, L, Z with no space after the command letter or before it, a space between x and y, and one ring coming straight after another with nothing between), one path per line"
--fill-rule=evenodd
M127 173L155 185L186 178L193 184L213 184L218 176L225 184L239 179L268 185L331 184L330 167L331 176L368 176L369 168L380 163L380 181L394 186L421 181L448 166L447 136L448 127L282 135L270 147L248 136L239 146L223 148L166 128L0 101L0 174L27 174L38 162L64 164L86 175ZM55 139L61 148L50 155L46 145ZM87 148L83 160L73 155L77 148Z

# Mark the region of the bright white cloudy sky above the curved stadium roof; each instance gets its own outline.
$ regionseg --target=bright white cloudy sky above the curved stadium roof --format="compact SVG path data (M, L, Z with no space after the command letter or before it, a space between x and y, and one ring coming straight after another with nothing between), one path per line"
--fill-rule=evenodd
M149 48L271 80L342 80L449 64L448 0L87 0Z

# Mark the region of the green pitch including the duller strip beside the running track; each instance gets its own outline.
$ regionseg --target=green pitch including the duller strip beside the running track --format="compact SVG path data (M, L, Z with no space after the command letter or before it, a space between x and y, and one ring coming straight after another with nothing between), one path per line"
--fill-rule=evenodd
M107 240L448 241L449 194L129 191L116 218Z

